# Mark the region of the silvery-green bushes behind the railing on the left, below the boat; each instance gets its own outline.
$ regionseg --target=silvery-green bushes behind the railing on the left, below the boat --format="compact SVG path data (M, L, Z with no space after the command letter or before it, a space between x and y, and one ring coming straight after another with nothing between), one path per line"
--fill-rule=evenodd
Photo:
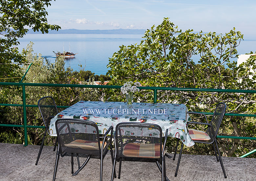
M64 57L57 57L54 63L50 63L41 57L41 54L34 54L31 42L27 49L23 51L28 62L32 62L23 82L27 83L52 83L52 84L94 84L94 80L84 81L82 73L74 73L72 69L65 69ZM28 65L24 65L23 73ZM84 72L81 70L80 72ZM1 87L0 100L9 104L22 104L21 87ZM5 93L3 93L5 92ZM65 88L65 87L36 87L26 86L26 104L37 105L37 101L44 96L52 96L58 106L71 106L80 100L100 101L103 91L91 88ZM59 111L62 111L59 109ZM1 124L23 125L22 107L1 107ZM27 108L27 124L44 126L38 108ZM44 129L28 129L29 144L41 144ZM52 145L55 139L48 136L45 145ZM22 144L24 141L24 130L20 128L2 127L0 128L0 142Z

